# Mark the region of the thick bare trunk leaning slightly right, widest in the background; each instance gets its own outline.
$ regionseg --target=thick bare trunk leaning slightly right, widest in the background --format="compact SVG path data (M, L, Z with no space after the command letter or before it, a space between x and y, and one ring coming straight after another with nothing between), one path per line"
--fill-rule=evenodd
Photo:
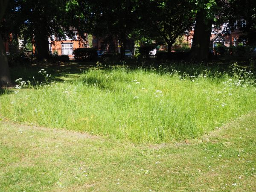
M197 13L193 43L190 51L190 59L192 61L208 61L212 23L212 20L207 20L204 11Z

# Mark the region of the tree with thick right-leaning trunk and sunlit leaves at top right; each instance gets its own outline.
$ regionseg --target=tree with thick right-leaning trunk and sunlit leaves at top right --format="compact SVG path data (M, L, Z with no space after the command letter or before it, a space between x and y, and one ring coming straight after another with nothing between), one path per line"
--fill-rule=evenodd
M197 62L208 62L209 44L212 25L222 26L227 22L227 15L232 0L191 0L196 14L193 43L190 59Z

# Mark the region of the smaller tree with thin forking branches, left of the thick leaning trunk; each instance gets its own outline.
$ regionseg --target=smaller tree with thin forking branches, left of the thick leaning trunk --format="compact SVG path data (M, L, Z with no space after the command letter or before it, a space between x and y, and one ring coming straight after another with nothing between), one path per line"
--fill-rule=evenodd
M171 52L178 36L192 29L195 18L189 0L145 0L139 2L140 28L143 35L161 37Z

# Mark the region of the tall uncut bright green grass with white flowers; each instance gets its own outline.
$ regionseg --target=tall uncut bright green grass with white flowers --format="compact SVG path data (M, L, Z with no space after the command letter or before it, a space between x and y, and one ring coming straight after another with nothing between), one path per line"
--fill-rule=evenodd
M235 64L230 73L189 73L116 67L91 68L73 80L34 87L19 79L14 92L0 96L0 113L20 122L162 143L198 137L256 109L250 71Z

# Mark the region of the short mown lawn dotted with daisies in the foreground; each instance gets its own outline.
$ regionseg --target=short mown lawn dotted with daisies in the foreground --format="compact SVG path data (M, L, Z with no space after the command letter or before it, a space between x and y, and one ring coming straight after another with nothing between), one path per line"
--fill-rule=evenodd
M189 143L120 143L0 121L0 191L256 191L256 113Z

